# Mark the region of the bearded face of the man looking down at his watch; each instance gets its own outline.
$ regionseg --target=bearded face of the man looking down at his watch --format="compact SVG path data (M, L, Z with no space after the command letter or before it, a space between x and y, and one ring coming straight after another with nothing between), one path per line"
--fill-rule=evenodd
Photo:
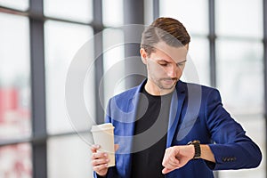
M174 86L182 76L187 52L188 44L174 47L165 42L156 44L155 51L150 53L150 56L141 50L142 61L147 65L147 85L150 90L148 92L164 94L174 90Z

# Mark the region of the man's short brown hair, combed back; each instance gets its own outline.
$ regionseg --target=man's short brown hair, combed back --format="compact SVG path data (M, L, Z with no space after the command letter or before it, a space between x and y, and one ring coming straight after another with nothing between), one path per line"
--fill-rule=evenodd
M161 17L142 32L141 48L150 55L160 41L179 47L190 43L190 35L179 20Z

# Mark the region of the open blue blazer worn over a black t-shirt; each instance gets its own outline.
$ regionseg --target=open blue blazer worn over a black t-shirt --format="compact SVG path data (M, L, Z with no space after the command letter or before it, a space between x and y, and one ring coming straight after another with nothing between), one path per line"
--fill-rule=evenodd
M116 166L109 167L108 178L131 177L134 119L145 83L109 100L106 122L115 126L115 143L119 144L119 149ZM166 177L209 178L214 177L213 170L253 168L262 160L261 150L255 142L223 109L216 89L179 81L170 105L166 148L193 140L209 144L216 163L190 160L186 166L166 174ZM97 177L95 173L94 177Z

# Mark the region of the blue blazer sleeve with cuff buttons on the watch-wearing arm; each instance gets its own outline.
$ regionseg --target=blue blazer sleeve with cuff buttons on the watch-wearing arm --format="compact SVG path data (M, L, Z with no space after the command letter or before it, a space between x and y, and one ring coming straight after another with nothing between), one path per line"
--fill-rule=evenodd
M206 125L214 144L210 149L216 163L214 170L253 168L259 166L262 153L239 123L223 109L221 96L214 89L206 97Z

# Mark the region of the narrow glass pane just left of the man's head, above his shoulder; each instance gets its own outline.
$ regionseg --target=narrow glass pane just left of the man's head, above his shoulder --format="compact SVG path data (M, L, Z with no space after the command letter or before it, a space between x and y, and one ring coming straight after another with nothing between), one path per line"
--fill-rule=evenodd
M108 28L103 31L105 102L125 90L125 48L123 31ZM105 104L106 106L106 104ZM106 108L105 108L106 109Z

